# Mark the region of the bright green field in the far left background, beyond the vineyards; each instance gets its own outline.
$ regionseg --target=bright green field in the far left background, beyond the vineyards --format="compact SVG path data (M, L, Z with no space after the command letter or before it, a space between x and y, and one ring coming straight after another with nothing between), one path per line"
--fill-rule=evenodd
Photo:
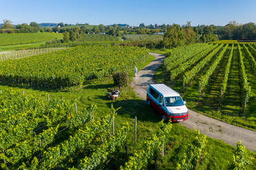
M46 42L48 40L61 39L63 34L58 33L13 33L13 34L0 34L1 45L21 45L34 42ZM1 49L1 47L0 47Z

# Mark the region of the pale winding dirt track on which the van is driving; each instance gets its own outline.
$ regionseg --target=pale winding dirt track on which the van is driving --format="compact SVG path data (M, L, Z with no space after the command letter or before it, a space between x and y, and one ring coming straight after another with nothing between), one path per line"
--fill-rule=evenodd
M153 55L156 59L140 70L137 77L134 77L133 82L131 83L136 95L142 99L146 99L147 88L149 84L153 83L154 71L156 71L158 66L164 62L164 56L157 53L149 54ZM180 122L180 125L191 130L195 127L197 130L200 130L202 134L220 139L233 146L236 146L238 141L242 141L242 144L246 145L247 149L256 151L256 132L252 130L246 130L242 127L237 127L235 125L230 125L228 123L206 117L193 110L189 110L189 119L187 121Z

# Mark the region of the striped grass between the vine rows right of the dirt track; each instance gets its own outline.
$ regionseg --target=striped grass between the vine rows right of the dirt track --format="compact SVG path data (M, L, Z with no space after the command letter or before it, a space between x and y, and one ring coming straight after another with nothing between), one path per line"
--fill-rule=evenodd
M151 50L152 51L152 50ZM152 52L156 53L166 53L168 50L153 50ZM233 59L231 63L231 72L228 76L228 84L226 88L226 95L222 99L222 103L220 105L220 110L218 110L219 104L219 96L220 96L220 83L223 80L224 74L224 66L226 66L226 62L228 60L228 55L230 53L230 47L224 54L224 59L217 66L215 72L211 76L209 80L209 84L204 91L203 99L198 100L198 86L199 86L199 77L203 75L207 68L204 68L200 74L195 77L191 86L187 86L185 93L182 94L182 98L187 102L187 106L195 110L196 112L200 112L201 114L206 114L209 117L213 117L215 119L219 119L221 121L225 121L227 123L231 123L233 125L237 125L240 127L245 127L250 130L256 130L256 120L255 120L255 97L252 97L247 104L246 113L242 114L242 101L241 101L241 87L239 82L239 69L238 69L238 58L237 58L237 47L234 49ZM218 53L215 55L217 56ZM215 57L211 60L211 62L215 60ZM211 65L211 62L209 65ZM250 68L247 64L246 71L250 72ZM250 82L250 86L253 86L253 91L255 91L255 76L253 77L252 73L248 74L248 81ZM155 72L155 80L157 83L164 82L177 90L178 93L182 93L182 75L178 76L173 84L171 84L169 80L169 73L165 71L164 66L160 66L158 70ZM256 92L255 92L256 93Z

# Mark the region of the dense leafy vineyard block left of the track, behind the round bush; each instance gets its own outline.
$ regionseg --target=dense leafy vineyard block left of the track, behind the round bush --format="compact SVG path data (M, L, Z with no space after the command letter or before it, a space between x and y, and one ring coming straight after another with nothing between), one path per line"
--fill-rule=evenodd
M134 63L144 61L147 55L148 50L139 47L80 46L23 60L3 61L0 77L3 82L15 82L12 83L15 86L83 86L90 80L111 77L115 71L131 73Z

